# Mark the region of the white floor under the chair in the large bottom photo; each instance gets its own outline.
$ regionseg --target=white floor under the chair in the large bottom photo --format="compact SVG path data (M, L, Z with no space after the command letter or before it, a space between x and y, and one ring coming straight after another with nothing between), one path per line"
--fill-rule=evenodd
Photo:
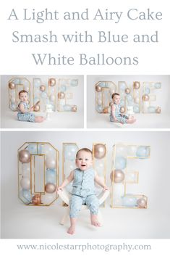
M67 234L69 220L65 226L59 224L65 207L58 200L50 207L29 207L17 202L10 209L8 202L1 211L1 238L4 239L157 239L170 237L169 212L151 207L144 209L112 209L109 200L101 208L104 225L90 225L88 210L82 210L77 220L76 234ZM7 210L8 209L8 210Z

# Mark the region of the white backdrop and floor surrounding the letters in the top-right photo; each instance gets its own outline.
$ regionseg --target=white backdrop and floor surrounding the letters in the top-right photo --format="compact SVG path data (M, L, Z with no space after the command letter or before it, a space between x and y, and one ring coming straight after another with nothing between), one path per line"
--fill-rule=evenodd
M109 122L109 114L100 114L95 111L95 83L100 80L110 80L118 85L119 81L126 81L132 85L133 81L161 82L161 89L156 90L156 103L161 107L161 114L135 114L136 123L122 125L122 128L170 128L170 76L169 75L88 75L88 128L117 128L114 123ZM118 88L117 88L118 89ZM142 93L142 90L141 90Z

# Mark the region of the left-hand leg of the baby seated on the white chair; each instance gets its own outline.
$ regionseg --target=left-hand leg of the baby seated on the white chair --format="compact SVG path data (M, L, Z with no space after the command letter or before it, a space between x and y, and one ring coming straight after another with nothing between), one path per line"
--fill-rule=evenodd
M67 233L72 235L75 234L75 224L77 221L77 215L81 210L82 207L82 197L78 197L73 195L70 199L69 203L70 212L69 212L69 218L70 218L70 227L67 230Z

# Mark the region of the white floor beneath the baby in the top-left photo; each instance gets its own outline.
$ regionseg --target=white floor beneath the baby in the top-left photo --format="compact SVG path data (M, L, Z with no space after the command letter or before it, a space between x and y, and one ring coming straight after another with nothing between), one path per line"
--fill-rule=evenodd
M46 118L46 113L35 115ZM50 114L50 120L43 123L20 122L17 120L17 112L1 112L1 128L83 128L83 123L82 112L54 112Z

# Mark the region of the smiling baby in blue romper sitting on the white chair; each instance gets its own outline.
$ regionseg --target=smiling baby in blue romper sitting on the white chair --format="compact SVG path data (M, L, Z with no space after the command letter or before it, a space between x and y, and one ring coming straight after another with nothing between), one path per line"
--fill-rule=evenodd
M72 170L69 177L57 188L63 189L70 182L72 184L72 197L70 199L70 224L67 233L75 234L75 224L77 215L81 210L82 205L87 205L90 210L90 220L93 226L101 226L98 222L98 198L95 196L94 182L103 187L103 190L107 190L105 183L101 180L98 174L93 170L93 157L90 149L80 149L76 154L75 163L77 168Z

